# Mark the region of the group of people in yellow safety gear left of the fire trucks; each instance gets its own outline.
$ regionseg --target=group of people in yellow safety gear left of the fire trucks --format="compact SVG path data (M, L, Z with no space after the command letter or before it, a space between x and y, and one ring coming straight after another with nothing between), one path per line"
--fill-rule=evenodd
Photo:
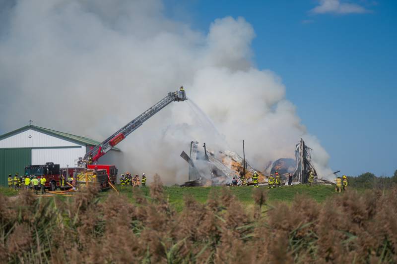
M41 189L41 193L44 194L46 192L47 179L45 177L37 177L32 175L25 175L24 177L19 176L18 173L15 173L15 176L12 177L11 174L8 174L8 188L10 190L24 190L33 189L37 194L39 189Z

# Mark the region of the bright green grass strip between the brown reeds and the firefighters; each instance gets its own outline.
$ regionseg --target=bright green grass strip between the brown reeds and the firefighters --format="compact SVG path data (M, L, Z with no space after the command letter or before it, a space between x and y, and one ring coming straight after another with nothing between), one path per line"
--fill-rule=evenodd
M186 195L193 196L200 203L205 203L211 193L222 192L222 189L229 189L232 194L234 194L237 199L243 203L245 206L250 207L254 205L254 201L252 199L252 192L254 190L253 187L164 187L166 197L169 203L177 210L181 211L184 206L184 197ZM261 186L259 188L265 188L265 186ZM136 190L131 187L124 187L121 190L121 187L118 186L120 194L125 196L126 199L130 200L132 203L133 199L133 191ZM150 197L149 188L140 188L145 196ZM104 191L99 194L100 200L104 201L106 197L113 192L112 190ZM0 193L5 196L16 195L17 191L9 190L8 188L0 188ZM268 190L267 202L268 204L272 204L276 201L283 201L290 204L294 197L299 195L306 195L313 198L315 201L321 203L325 201L328 197L335 195L334 187L327 185L316 185L316 186L308 186L308 185L296 185L293 187L282 186L280 188L274 188Z

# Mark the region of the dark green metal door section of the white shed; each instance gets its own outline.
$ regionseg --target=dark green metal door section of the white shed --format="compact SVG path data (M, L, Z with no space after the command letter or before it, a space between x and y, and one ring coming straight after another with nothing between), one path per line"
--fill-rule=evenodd
M25 166L32 162L31 149L0 149L0 184L7 186L8 174L23 175Z

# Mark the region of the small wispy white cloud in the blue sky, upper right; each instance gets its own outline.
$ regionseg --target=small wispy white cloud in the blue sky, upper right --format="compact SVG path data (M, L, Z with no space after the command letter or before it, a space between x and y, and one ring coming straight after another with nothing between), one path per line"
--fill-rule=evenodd
M316 14L326 14L326 13L333 13L333 14L362 14L368 13L370 10L366 9L365 7L356 4L356 3L349 3L349 2L342 2L341 0L319 0L320 5L316 6L312 10L312 13Z

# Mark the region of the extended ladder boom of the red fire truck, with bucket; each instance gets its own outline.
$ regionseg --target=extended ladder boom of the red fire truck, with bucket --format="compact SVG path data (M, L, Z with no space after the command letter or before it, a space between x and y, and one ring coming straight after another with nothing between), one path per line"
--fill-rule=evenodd
M130 123L119 129L109 138L104 140L99 145L95 146L93 149L89 150L85 156L84 160L89 160L89 157L92 156L92 162L96 162L99 158L105 155L108 151L112 149L115 145L120 143L123 139L125 139L128 135L132 133L135 129L143 124L144 121L152 117L155 113L163 109L165 106L169 105L170 103L177 101L185 101L187 100L185 90L181 87L181 89L177 92L170 92L166 97L160 100L157 104L150 107L143 113L141 113L138 117L133 119Z

